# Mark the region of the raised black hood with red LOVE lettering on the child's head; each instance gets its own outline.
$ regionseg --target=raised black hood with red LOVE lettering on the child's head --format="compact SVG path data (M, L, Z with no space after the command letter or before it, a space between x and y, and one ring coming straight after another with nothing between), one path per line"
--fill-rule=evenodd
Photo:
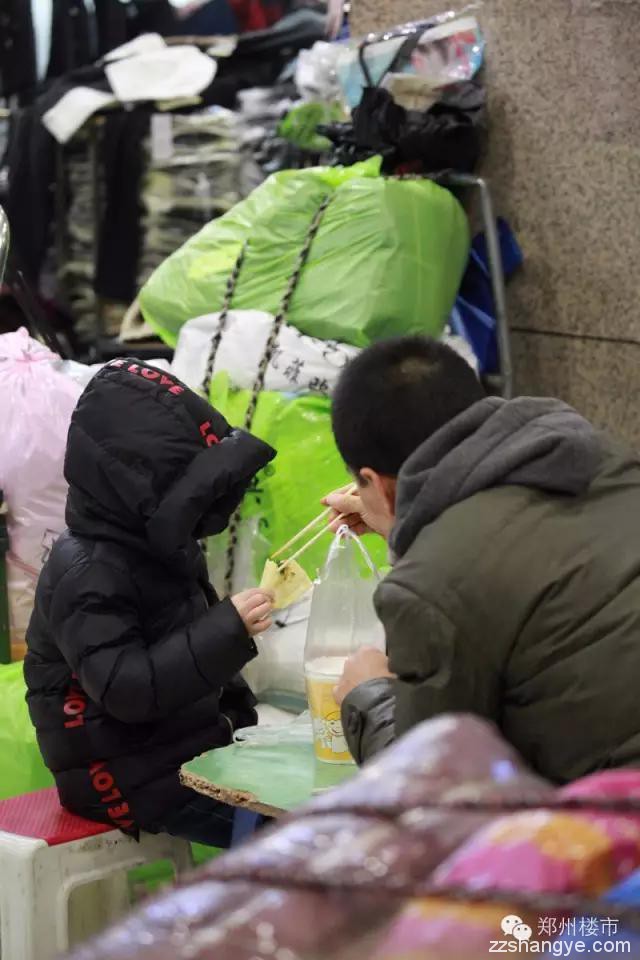
M172 374L114 360L90 381L71 418L67 525L177 559L198 537L226 527L274 456Z

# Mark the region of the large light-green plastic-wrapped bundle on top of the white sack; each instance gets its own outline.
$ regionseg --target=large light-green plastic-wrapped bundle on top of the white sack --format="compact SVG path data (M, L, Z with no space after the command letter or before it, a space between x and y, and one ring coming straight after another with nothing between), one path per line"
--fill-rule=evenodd
M274 174L155 271L140 294L145 319L175 345L183 323L221 309L245 244L232 305L277 313L329 197L288 322L356 346L393 334L439 336L467 261L466 215L442 187L386 179L379 167L374 158Z

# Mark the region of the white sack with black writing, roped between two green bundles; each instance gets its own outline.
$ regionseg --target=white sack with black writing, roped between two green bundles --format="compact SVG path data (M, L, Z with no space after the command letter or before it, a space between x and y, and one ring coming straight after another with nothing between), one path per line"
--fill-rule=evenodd
M189 320L180 330L173 358L173 372L194 390L205 378L211 340L220 326L220 314ZM273 326L273 316L259 310L231 310L220 339L214 374L226 371L234 387L250 390ZM282 393L330 393L340 371L359 353L358 347L335 340L318 340L283 323L265 390Z

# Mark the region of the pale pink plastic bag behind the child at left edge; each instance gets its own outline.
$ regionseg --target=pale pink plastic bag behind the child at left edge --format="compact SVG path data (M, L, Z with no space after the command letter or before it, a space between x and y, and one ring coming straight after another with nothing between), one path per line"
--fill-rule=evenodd
M7 578L14 659L24 653L38 574L65 527L64 451L82 388L54 369L58 360L24 328L0 336L0 490L9 508Z

